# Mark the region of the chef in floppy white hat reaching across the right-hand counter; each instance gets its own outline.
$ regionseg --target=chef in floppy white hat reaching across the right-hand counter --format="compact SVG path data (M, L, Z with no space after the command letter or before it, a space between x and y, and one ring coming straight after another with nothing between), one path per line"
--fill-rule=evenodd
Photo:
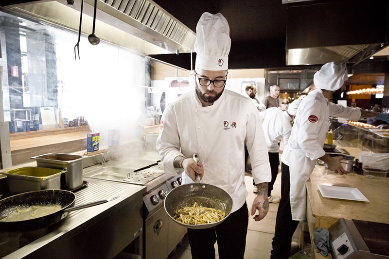
M361 116L389 121L388 113L373 113L359 108L344 107L330 102L346 89L345 64L327 63L314 75L317 89L301 100L289 137L287 150L281 156L281 202L277 210L271 259L288 259L293 233L299 221L306 219L306 187L317 159L330 170L346 174L340 164L343 157L331 157L323 150L329 117L358 120ZM340 95L340 94L339 94ZM388 115L386 115L388 114Z

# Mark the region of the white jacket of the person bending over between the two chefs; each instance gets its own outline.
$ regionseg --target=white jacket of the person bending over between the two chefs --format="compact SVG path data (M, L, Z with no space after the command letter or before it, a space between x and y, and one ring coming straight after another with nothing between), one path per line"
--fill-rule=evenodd
M267 151L270 153L279 152L279 143L283 138L284 146L288 146L290 132L292 131L292 118L286 111L277 107L271 107L259 113L264 120L262 128L265 133Z

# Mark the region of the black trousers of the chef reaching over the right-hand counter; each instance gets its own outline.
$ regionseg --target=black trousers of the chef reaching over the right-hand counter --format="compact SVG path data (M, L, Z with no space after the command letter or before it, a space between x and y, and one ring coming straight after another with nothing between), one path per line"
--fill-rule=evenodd
M290 174L289 166L281 163L281 201L278 205L276 230L273 238L271 259L288 259L292 237L299 221L292 220L290 209Z

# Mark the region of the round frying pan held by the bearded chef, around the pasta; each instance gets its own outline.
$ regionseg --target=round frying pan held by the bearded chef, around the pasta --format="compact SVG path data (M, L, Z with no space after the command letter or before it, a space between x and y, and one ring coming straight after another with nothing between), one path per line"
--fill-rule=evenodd
M194 155L194 159L198 162L197 154ZM217 222L200 225L184 224L174 218L177 210L185 206L193 206L195 202L202 207L222 210L226 213L226 216ZM215 227L227 219L232 210L232 197L217 186L200 183L199 178L196 176L195 183L183 184L171 190L165 197L164 207L169 217L177 224L193 229L205 229Z

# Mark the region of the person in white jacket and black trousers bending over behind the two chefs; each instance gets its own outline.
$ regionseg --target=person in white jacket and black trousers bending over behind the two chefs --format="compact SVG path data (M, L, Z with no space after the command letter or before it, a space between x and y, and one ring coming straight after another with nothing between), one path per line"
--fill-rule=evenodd
M281 111L276 107L271 107L259 113L261 118L264 120L262 127L265 132L265 140L271 168L271 181L267 187L267 198L269 203L280 202L280 197L271 195L274 182L276 181L278 175L278 167L280 165L280 141L283 139L284 148L288 146L290 132L292 131L292 120L300 102L301 100L293 101L289 104L288 110L286 111ZM255 184L254 193L256 193Z

